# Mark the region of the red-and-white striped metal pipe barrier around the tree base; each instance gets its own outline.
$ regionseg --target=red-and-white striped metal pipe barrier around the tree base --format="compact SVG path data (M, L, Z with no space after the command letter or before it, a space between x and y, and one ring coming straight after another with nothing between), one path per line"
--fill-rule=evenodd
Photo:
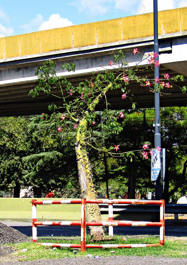
M106 203L108 204L108 221L87 222L86 221L86 203ZM160 205L160 222L145 221L113 221L113 204L157 204ZM46 204L81 204L81 221L37 221L36 205ZM134 248L148 246L162 246L164 244L164 200L108 200L108 199L72 199L72 200L54 200L37 201L32 200L32 236L33 242L37 242L37 226L81 226L81 244L56 244L56 243L38 243L43 246L61 247L61 248ZM113 226L160 226L160 244L86 244L86 226L109 226L109 235L113 235Z

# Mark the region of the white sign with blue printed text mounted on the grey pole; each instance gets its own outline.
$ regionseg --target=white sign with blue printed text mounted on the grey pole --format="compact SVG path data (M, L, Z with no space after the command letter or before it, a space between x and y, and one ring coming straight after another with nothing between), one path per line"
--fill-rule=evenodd
M151 155L151 181L156 181L161 170L161 155L157 149L152 149Z

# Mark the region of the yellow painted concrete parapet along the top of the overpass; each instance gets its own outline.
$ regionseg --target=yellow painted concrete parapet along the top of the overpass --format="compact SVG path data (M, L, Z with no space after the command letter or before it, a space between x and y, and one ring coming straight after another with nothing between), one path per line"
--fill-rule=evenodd
M187 31L187 7L158 12L158 34ZM0 59L153 36L153 13L0 38Z

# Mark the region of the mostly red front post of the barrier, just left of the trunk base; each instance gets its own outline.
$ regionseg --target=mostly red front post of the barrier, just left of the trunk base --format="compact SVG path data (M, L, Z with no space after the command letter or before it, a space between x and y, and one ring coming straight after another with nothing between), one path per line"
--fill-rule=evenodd
M81 252L86 251L86 199L81 199Z

